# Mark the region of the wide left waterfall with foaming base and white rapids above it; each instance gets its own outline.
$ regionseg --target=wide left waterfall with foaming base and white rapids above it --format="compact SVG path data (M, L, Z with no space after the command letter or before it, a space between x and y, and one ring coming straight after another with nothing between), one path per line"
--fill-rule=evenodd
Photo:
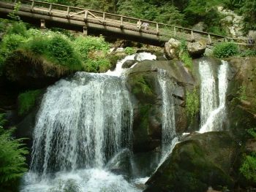
M131 147L133 117L120 71L107 74L77 72L48 88L22 192L61 192L70 185L78 191L140 191L105 169L110 158Z

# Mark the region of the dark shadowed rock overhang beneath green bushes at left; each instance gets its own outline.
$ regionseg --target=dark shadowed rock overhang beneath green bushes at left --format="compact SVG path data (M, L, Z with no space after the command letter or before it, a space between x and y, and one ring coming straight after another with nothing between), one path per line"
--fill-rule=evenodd
M67 69L61 69L47 63L43 58L34 58L21 50L15 51L9 58L5 68L8 81L20 88L44 88L69 74Z

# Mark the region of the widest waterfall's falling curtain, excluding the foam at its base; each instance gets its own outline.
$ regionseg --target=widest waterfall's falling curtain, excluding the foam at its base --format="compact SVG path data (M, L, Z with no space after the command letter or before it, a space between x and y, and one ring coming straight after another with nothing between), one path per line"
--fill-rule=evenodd
M78 72L60 80L42 99L31 170L45 175L104 166L121 147L130 146L132 114L118 77Z

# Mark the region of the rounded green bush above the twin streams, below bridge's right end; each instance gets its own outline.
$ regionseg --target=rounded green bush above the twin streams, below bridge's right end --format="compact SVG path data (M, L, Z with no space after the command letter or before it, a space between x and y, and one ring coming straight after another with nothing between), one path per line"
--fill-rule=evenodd
M238 54L238 45L232 42L221 42L214 47L214 56L227 58Z

